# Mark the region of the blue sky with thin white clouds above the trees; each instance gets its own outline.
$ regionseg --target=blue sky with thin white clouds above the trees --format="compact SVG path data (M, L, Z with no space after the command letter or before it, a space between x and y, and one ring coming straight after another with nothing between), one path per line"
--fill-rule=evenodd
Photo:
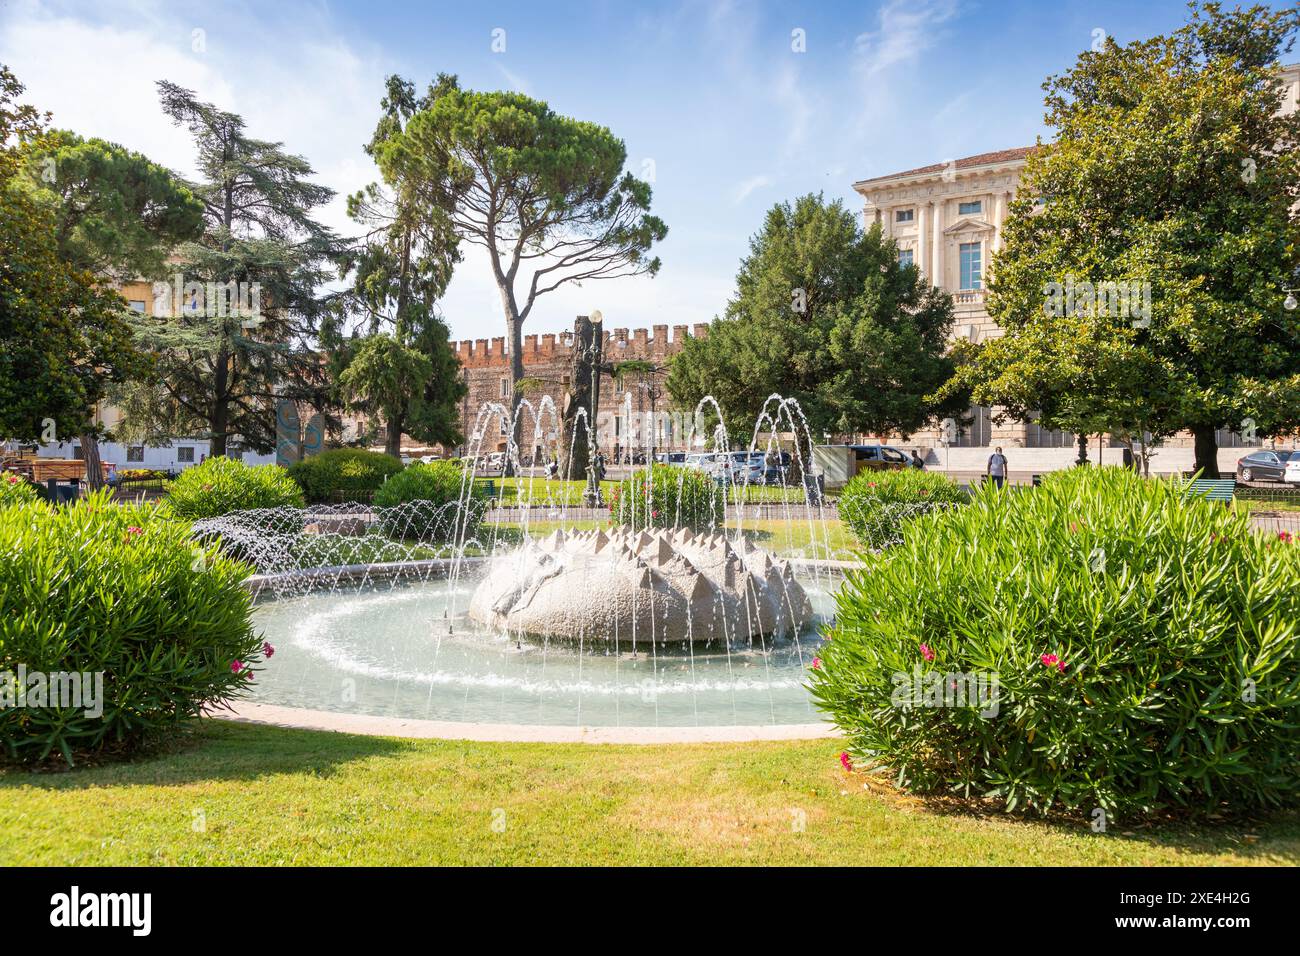
M823 191L857 211L855 179L1032 143L1044 131L1043 79L1095 31L1123 43L1184 16L1179 0L0 0L0 61L57 125L182 173L190 144L159 113L152 85L190 86L242 113L254 135L307 156L341 193L374 178L361 143L389 73L421 87L455 73L463 86L515 88L607 125L627 142L629 169L653 174L670 229L663 269L541 299L525 332L542 333L597 307L607 326L707 321L772 203ZM794 30L805 52L792 49ZM342 199L322 219L347 229ZM443 311L455 338L503 334L481 259L460 267Z

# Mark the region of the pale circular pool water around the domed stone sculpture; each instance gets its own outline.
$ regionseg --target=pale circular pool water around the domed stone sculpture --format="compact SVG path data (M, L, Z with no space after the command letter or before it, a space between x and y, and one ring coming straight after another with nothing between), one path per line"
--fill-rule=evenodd
M394 718L584 727L807 724L827 572L800 575L812 619L788 637L655 645L510 635L467 615L472 579L373 581L263 600L276 648L260 704Z

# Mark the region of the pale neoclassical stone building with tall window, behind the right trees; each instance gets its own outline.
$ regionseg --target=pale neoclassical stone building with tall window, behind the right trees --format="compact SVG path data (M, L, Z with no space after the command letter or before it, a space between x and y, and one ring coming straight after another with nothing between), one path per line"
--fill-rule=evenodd
M1286 83L1282 112L1287 113L1300 108L1300 64L1284 66L1282 75ZM980 342L1001 334L985 308L987 280L993 254L1002 246L1008 207L1019 189L1026 159L1035 148L1022 146L984 152L853 183L863 199L866 224L879 222L885 235L898 243L902 261L915 264L931 282L952 294L957 313L954 338ZM954 444L958 449L991 445L1060 449L1054 455L1028 455L1043 466L1052 466L1076 441L1072 434L1034 423L997 424L989 408L971 408L967 418L968 424ZM939 445L939 434L919 432L909 444L933 447ZM1175 436L1165 442L1171 450L1190 445L1190 436ZM1239 453L1234 449L1244 445L1235 432L1221 432L1219 447L1225 450L1221 467L1235 460ZM1178 458L1175 454L1165 457L1170 464Z

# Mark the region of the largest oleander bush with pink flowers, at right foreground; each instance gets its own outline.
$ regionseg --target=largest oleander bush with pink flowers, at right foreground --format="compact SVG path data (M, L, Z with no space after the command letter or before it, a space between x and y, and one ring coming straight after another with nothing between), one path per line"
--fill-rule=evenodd
M836 601L814 695L904 787L1112 818L1300 791L1300 545L1183 483L980 490ZM980 675L996 714L957 706Z

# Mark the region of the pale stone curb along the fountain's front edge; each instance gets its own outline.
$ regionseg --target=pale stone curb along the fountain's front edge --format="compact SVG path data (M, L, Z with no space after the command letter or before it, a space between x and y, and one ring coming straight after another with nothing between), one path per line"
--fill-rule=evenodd
M237 723L259 723L363 736L519 744L734 744L762 740L820 740L840 736L840 730L831 723L736 727L569 727L526 723L462 723L376 714L343 714L333 710L283 708L248 701L239 701L230 710L214 711L211 717Z

